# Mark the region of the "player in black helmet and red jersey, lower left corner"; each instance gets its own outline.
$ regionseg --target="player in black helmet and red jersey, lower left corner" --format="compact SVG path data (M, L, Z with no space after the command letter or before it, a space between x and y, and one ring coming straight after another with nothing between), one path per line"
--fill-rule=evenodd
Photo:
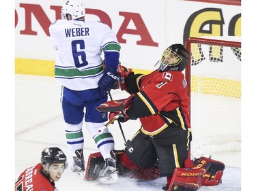
M25 169L20 174L16 183L15 191L54 191L55 181L59 181L67 166L66 155L59 147L46 147L42 151L41 163Z

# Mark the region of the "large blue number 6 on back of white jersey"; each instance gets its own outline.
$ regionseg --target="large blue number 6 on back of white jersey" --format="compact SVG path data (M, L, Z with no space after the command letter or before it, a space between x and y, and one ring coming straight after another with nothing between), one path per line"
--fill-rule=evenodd
M74 64L76 65L76 67L79 68L88 65L88 62L86 61L86 54L83 51L85 49L85 41L74 40L72 41L71 46Z

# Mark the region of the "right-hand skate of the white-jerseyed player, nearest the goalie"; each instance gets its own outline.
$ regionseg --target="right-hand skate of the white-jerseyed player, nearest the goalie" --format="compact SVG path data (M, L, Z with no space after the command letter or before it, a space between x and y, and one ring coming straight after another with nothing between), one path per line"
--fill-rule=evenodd
M102 184L113 184L118 180L119 171L116 165L116 154L112 152L111 156L113 158L106 158L104 169L99 173L99 180Z

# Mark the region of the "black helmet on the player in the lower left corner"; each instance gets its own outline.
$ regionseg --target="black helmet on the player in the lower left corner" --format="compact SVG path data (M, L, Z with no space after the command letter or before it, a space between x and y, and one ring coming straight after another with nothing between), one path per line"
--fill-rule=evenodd
M66 155L58 147L46 147L42 151L41 163L46 164L46 166L49 166L52 163L66 164L66 162Z

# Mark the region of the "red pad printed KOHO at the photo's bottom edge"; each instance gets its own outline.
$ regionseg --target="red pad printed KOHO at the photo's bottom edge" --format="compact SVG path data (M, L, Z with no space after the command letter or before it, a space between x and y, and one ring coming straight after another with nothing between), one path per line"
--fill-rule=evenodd
M175 168L167 191L196 191L202 186L203 169Z

